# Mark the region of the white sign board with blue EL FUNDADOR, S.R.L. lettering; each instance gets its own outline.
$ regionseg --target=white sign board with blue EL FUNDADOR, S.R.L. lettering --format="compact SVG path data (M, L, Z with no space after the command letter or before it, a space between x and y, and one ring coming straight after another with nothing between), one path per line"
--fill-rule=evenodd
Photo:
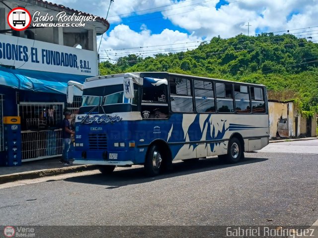
M20 69L97 76L93 51L0 34L0 64Z

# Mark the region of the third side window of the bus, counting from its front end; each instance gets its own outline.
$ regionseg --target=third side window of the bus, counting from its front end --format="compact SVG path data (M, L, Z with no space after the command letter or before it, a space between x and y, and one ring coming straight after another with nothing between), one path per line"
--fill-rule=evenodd
M198 113L215 113L213 82L194 80L194 96Z

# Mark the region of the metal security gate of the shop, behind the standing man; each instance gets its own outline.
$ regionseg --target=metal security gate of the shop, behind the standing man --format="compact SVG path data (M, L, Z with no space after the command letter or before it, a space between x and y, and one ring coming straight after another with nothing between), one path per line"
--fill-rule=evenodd
M62 155L64 103L29 103L18 105L21 117L22 162Z

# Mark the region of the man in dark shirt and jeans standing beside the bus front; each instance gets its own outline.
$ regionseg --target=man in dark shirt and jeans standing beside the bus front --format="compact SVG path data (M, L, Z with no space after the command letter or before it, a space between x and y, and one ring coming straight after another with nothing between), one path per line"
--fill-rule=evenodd
M64 162L64 165L72 164L69 161L69 150L71 147L71 135L74 135L75 132L71 130L69 119L71 119L71 112L65 112L63 125L62 125L63 154L62 154L62 159L60 160L61 163Z

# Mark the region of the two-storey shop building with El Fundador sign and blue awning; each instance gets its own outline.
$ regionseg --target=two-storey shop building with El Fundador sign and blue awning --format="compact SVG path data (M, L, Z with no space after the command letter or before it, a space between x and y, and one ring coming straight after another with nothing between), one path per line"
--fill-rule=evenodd
M13 30L8 22L26 28ZM104 18L63 5L0 1L0 164L62 153L59 123L65 108L80 103L75 96L67 105L67 82L98 75L96 36L108 28Z

